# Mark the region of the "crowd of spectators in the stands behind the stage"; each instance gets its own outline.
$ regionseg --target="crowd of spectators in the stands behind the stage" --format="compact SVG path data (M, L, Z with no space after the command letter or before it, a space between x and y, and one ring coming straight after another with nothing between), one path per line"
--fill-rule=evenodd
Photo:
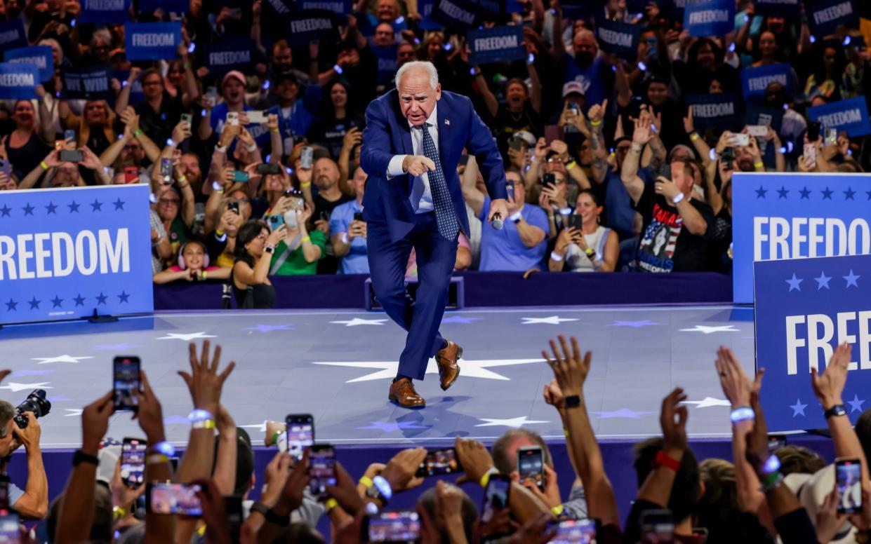
M56 69L37 100L0 105L0 188L150 184L154 281L230 281L240 306L259 306L274 298L273 275L368 273L364 112L412 60L473 100L511 190L511 220L496 231L463 158L470 228L457 269L729 272L734 171L871 166L868 137L807 120L815 105L871 97L866 39L858 25L812 35L803 6L800 18L762 16L736 0L733 31L693 37L659 0L638 13L603 0L577 19L558 0L523 0L476 17L523 25L528 56L477 66L463 30L429 30L438 25L414 0L357 0L333 40L294 47L273 3L192 2L184 14L134 3L131 21L181 21L176 56L147 62L127 59L124 24L77 24L78 0L0 3L0 22L23 20ZM868 3L854 9L871 17ZM637 25L636 54L600 47L604 21ZM204 51L239 37L253 42L249 67L210 71ZM786 85L740 97L742 71L782 63ZM111 97L65 98L61 71L91 65L111 66ZM718 93L738 96L726 128L693 115L693 97ZM61 161L64 150L81 161Z

